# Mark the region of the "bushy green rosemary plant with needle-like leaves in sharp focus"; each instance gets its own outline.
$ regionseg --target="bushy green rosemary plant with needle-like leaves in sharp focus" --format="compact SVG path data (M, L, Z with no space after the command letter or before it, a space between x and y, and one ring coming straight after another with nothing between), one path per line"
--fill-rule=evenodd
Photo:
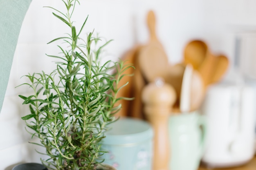
M57 46L60 55L47 55L58 60L54 71L25 75L29 83L21 85L29 86L34 94L19 95L30 108L22 119L32 137L40 139L36 144L45 147L49 159L41 161L47 168L101 169L101 155L105 153L101 141L121 107L116 103L124 98L117 97L117 93L126 84L120 85L119 81L131 66L122 61L101 63L101 50L109 41L101 44L93 32L82 35L87 18L80 29L72 21L79 1L61 1L65 12L49 8L70 33L49 42L61 41Z

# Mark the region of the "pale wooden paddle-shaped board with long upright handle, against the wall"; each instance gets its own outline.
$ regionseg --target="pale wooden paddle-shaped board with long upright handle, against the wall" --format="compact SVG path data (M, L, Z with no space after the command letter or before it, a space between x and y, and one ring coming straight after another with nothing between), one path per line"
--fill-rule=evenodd
M157 39L155 32L155 14L148 12L148 29L150 40L139 53L139 66L147 82L153 82L155 78L162 77L168 66L168 57L164 47Z

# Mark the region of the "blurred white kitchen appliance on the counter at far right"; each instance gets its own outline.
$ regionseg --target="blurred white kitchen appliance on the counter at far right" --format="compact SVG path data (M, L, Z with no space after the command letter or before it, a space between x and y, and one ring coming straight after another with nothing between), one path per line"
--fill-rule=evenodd
M236 39L237 50L239 43ZM209 168L238 166L254 157L255 86L245 82L238 68L235 56L234 68L225 81L209 87L202 104L208 127L202 162Z

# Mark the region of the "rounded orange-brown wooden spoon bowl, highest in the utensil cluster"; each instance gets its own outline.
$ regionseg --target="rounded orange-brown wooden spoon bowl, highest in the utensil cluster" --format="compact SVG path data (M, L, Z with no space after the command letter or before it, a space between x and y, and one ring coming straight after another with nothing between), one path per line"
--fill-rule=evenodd
M198 69L204 61L208 51L208 46L201 40L189 42L184 49L184 63L192 64L194 69Z

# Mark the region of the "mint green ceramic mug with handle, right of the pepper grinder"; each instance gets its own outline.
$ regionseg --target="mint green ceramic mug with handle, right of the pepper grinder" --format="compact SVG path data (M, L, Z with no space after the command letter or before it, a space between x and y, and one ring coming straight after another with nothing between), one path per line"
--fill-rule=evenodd
M171 170L198 170L205 148L205 122L196 111L170 116Z

